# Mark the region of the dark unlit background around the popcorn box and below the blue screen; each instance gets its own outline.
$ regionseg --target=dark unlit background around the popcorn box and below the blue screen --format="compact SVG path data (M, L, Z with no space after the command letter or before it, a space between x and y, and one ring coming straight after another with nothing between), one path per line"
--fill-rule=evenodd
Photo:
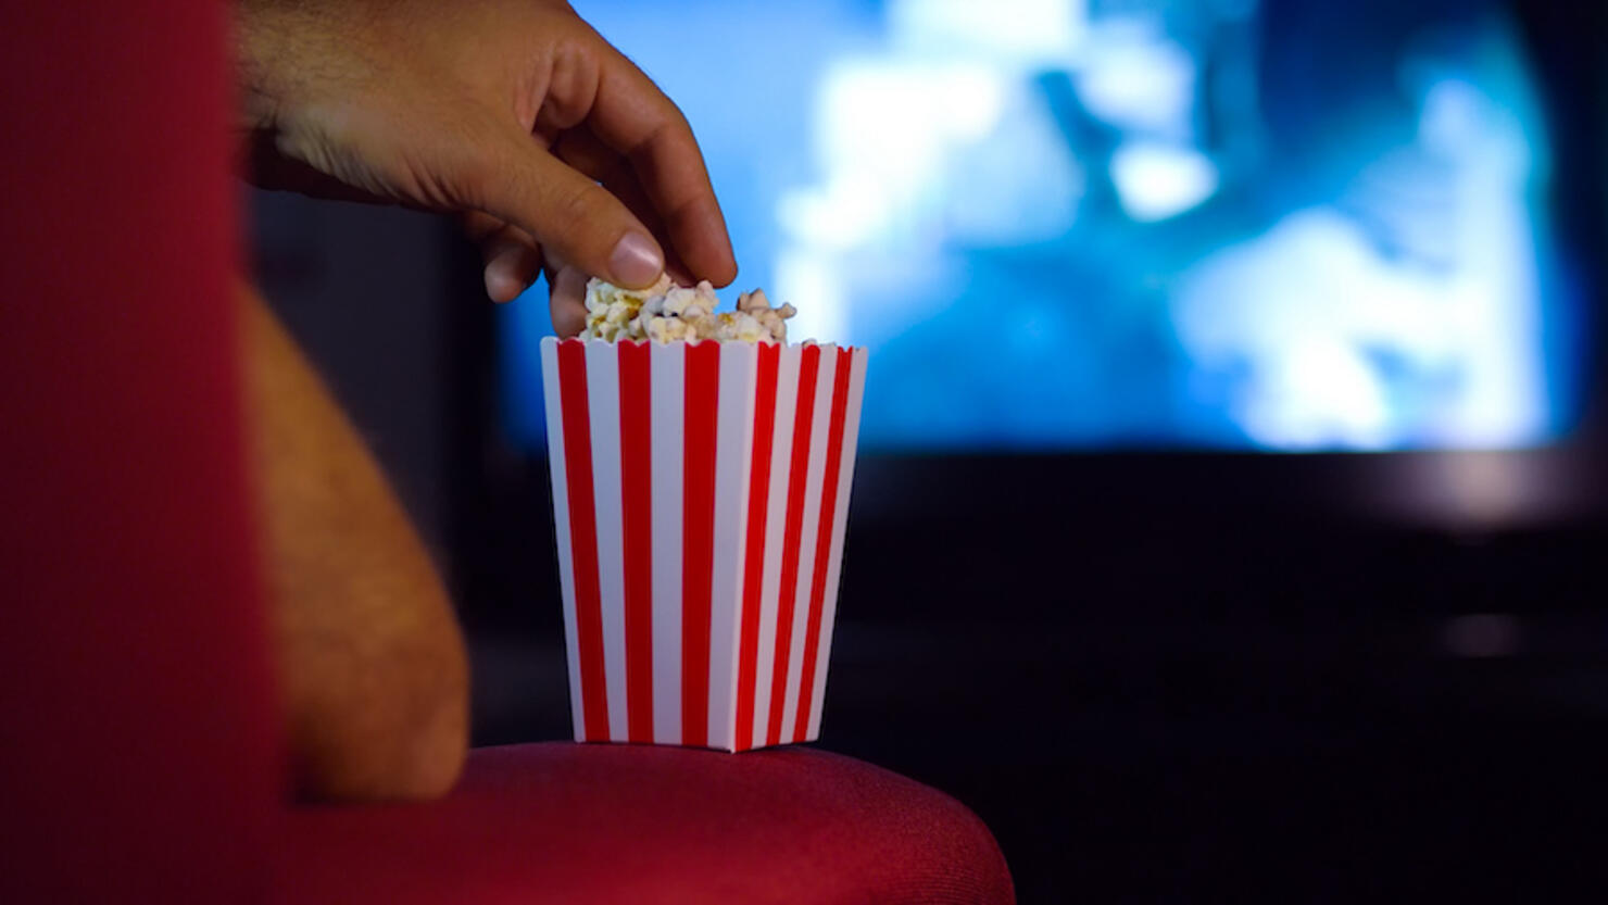
M949 791L1023 902L1595 899L1608 64L1516 6L1587 273L1581 426L1505 453L867 455L822 746ZM257 278L442 564L474 741L568 738L547 463L450 223L252 193Z

